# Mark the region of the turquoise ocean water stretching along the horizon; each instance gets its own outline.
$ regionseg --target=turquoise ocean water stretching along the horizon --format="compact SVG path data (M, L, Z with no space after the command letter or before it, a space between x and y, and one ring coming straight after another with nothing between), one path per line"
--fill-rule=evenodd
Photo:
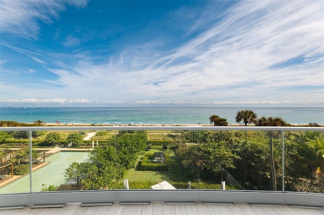
M257 117L281 117L291 124L324 124L323 108L64 108L64 109L0 109L0 120L32 123L109 123L115 124L210 124L209 117L218 115L230 124L236 113L249 109Z

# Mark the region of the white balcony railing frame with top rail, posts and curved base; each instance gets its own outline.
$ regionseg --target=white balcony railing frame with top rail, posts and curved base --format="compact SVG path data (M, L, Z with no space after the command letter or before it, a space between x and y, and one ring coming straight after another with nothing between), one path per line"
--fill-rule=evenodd
M279 191L269 190L208 190L208 189L176 189L176 190L89 190L89 191L54 191L33 192L33 173L29 174L29 192L1 193L0 206L15 206L26 204L61 204L67 202L147 202L147 201L178 201L178 202L249 202L269 204L300 204L323 206L322 193L291 192L285 190L285 134L286 132L324 132L324 127L256 127L256 126L41 126L41 127L1 127L0 131L26 131L29 133L30 170L31 146L33 131L276 131L281 142L281 187ZM278 141L278 140L277 140ZM32 172L32 171L30 171ZM1 187L1 184L0 184ZM1 191L1 188L0 188Z

